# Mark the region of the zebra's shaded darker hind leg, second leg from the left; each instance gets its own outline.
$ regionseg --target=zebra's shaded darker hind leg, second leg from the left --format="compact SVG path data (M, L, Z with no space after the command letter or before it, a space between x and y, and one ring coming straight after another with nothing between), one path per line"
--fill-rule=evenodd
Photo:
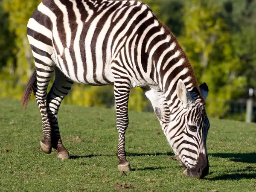
M47 95L47 111L49 115L50 125L52 128L51 144L52 148L55 148L57 150L56 157L59 159L70 158L67 149L64 147L61 141L61 134L59 131L57 115L61 102L64 97L69 93L72 85L73 81L64 76L64 74L61 73L58 68L55 68L55 81Z

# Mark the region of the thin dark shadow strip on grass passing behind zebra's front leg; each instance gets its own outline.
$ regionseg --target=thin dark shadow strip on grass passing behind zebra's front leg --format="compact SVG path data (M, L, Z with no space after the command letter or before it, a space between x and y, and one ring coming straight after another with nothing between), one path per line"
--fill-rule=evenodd
M160 156L160 155L174 155L174 153L126 153L126 157L129 156ZM91 158L91 157L113 157L114 154L89 154L89 155L71 155L70 159L80 159L80 158Z

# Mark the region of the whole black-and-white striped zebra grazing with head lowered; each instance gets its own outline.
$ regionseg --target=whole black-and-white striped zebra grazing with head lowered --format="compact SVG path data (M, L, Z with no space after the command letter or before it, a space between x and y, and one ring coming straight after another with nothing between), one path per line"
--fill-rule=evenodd
M34 93L42 119L42 151L49 154L54 148L57 158L70 158L57 115L74 82L113 84L118 169L130 171L125 153L128 99L132 88L141 87L185 168L183 174L208 174L208 86L198 86L177 38L148 5L137 0L42 0L29 18L27 37L35 69L21 102L26 109Z

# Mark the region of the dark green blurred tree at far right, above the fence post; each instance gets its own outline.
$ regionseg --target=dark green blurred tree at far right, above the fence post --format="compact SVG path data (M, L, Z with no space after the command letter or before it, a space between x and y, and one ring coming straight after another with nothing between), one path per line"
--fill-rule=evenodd
M256 0L224 1L223 15L232 28L232 43L236 47L246 77L245 94L249 87L256 89Z

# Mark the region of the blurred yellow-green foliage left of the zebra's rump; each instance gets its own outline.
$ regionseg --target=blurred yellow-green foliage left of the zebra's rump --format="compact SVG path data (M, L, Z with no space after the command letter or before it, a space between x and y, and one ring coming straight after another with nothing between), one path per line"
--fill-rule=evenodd
M9 62L1 71L0 96L12 96L20 99L31 69L34 67L32 52L26 36L26 24L35 7L41 0L2 0L3 10L9 16L9 31L15 34L12 47L14 60ZM10 42L12 42L10 41ZM9 42L6 41L8 47Z

